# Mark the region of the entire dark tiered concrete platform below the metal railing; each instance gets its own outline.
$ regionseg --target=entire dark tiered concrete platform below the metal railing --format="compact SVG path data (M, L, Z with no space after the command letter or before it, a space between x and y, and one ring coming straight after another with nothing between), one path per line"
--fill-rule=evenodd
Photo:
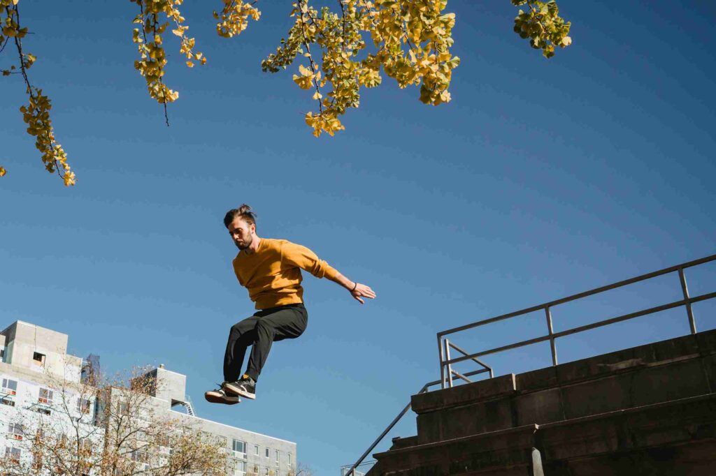
M412 397L370 475L716 475L716 330Z

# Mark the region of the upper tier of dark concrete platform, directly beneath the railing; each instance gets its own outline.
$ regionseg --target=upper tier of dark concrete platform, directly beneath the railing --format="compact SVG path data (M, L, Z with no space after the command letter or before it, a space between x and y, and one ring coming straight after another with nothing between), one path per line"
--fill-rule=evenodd
M417 442L427 444L707 395L714 389L716 330L414 395L412 409L418 415Z

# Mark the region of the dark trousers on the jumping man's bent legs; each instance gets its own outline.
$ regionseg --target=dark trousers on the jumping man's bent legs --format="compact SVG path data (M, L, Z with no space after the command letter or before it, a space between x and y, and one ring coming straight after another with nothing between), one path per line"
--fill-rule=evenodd
M241 375L246 349L251 345L246 374L258 380L261 369L269 357L271 344L284 339L295 339L304 333L309 314L303 304L261 309L253 316L231 326L224 354L224 380L236 382Z

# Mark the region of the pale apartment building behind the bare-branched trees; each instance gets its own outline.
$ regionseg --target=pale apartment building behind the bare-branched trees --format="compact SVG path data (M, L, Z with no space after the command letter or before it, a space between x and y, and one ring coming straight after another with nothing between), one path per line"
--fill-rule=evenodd
M1 456L29 461L33 456L22 442L40 419L68 432L82 425L89 435L87 444L102 445L107 430L97 410L100 405L112 405L117 395L110 392L109 402L84 398L87 365L67 354L67 341L67 334L22 321L0 332ZM97 365L96 358L92 364ZM155 382L148 397L155 411L190 423L223 445L227 475L294 475L295 442L198 417L185 393L186 376L163 365L145 377Z

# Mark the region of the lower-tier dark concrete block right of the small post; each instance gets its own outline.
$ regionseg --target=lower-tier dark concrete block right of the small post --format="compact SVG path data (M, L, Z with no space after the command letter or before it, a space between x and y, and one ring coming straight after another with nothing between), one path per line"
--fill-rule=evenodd
M549 476L716 474L716 394L539 425Z

